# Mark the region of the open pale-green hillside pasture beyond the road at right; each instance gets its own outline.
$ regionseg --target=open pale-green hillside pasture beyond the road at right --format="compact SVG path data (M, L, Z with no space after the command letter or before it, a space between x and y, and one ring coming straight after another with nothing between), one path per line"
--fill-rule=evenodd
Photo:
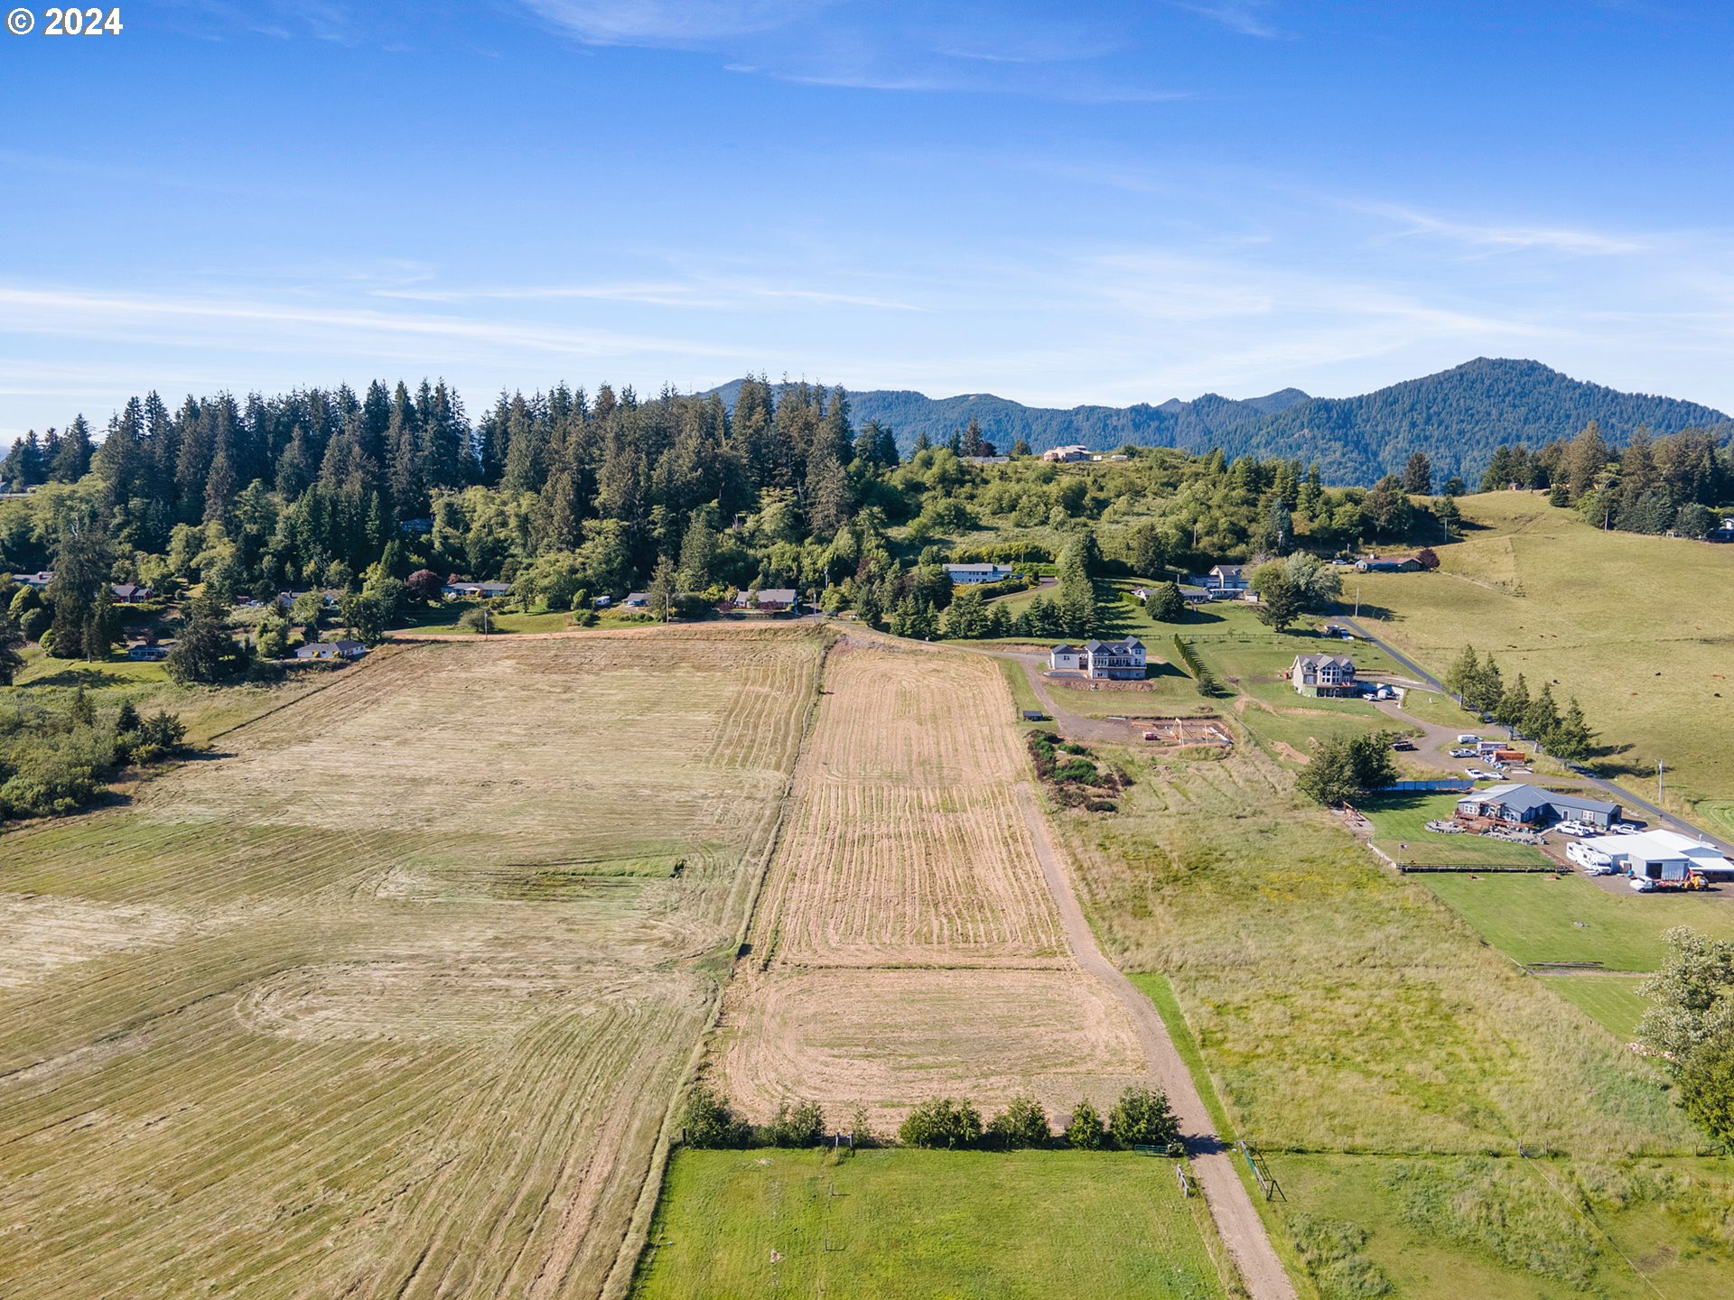
M1531 492L1458 503L1436 574L1359 574L1366 626L1443 674L1465 643L1531 690L1576 695L1614 752L1600 766L1734 832L1734 546L1602 532Z

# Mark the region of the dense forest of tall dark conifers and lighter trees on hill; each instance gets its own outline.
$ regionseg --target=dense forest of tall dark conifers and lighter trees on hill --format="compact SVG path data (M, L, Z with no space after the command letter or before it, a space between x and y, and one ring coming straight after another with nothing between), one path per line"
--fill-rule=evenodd
M238 600L321 588L368 640L453 574L508 581L522 608L770 586L907 622L948 605L943 560L995 558L978 551L1004 549L992 539L1007 532L1037 563L1063 562L1087 532L1087 567L1105 556L1155 575L1403 537L1415 518L1396 477L1328 489L1297 461L1170 449L1089 471L969 463L980 445L969 426L940 444L917 435L905 456L890 428L853 421L843 390L763 378L732 407L714 393L555 387L503 393L475 421L428 381L173 409L151 393L101 442L80 416L12 449L0 473L33 491L0 503L0 563L54 572L9 610L31 640L47 633L55 653L81 657L108 653L111 581L198 588L210 624ZM1082 634L1089 619L1054 627Z

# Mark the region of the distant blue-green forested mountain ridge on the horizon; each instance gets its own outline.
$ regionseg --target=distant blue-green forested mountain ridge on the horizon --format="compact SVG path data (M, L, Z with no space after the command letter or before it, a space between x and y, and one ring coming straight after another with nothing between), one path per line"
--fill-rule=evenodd
M716 390L728 406L740 381ZM1462 475L1474 487L1500 444L1540 447L1569 439L1597 421L1611 442L1635 428L1675 433L1713 428L1734 433L1722 411L1698 402L1623 393L1561 374L1538 361L1477 357L1439 374L1406 380L1359 397L1309 397L1283 388L1266 397L1205 393L1160 406L1023 406L994 393L926 397L903 388L850 392L857 425L877 419L907 449L917 435L942 440L975 416L983 435L1009 449L1020 437L1035 451L1082 444L1108 451L1124 444L1179 447L1228 456L1297 458L1318 463L1327 482L1372 484L1403 470L1410 454L1432 461L1434 480Z

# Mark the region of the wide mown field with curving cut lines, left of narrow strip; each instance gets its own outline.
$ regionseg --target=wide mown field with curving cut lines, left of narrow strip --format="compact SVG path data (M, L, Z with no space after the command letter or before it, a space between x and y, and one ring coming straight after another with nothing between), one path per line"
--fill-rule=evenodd
M598 1295L818 660L418 647L0 839L0 1295Z

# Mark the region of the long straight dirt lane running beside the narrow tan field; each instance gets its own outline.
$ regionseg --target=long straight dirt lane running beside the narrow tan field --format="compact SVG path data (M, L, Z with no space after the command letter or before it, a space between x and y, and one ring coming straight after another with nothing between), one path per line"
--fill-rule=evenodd
M1174 1115L1179 1118L1181 1132L1186 1137L1186 1153L1191 1156L1193 1175L1198 1179L1205 1205L1210 1206L1210 1217L1216 1220L1217 1236L1228 1246L1228 1253L1240 1271L1240 1279L1245 1283L1247 1293L1252 1300L1295 1300L1295 1288L1288 1281L1288 1272L1276 1257L1276 1250L1271 1246L1271 1238L1264 1231L1264 1220L1259 1219L1259 1212L1252 1205L1252 1196L1247 1194L1247 1186L1235 1172L1233 1154L1222 1146L1216 1127L1210 1123L1210 1113L1205 1111L1203 1099L1193 1085L1191 1071L1186 1069L1186 1063L1174 1050L1174 1040L1169 1038L1169 1028L1162 1023L1157 1004L1132 985L1120 967L1110 962L1096 945L1096 934L1084 919L1084 908L1079 907L1072 879L1059 865L1059 855L1054 849L1047 818L1037 806L1028 785L1018 787L1018 803L1023 808L1023 820L1030 827L1030 837L1035 841L1035 856L1042 863L1042 877L1047 881L1047 891L1054 896L1054 905L1059 908L1059 920L1066 929L1066 938L1072 941L1072 952L1077 955L1079 965L1099 979L1131 1014L1132 1024L1138 1028L1138 1038L1144 1049L1150 1075L1174 1106ZM1177 1196L1179 1193L1176 1191L1174 1194Z

